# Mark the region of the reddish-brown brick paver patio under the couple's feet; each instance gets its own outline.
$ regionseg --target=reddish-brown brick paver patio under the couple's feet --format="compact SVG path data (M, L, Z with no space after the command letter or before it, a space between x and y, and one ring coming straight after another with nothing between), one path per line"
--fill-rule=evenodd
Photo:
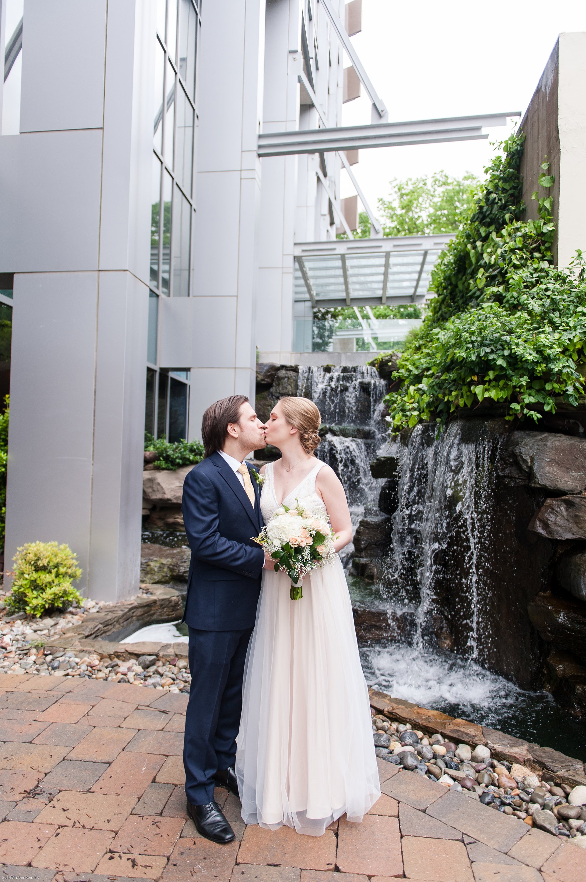
M186 695L130 684L0 680L0 882L584 882L586 849L378 760L382 797L321 837L246 827L197 835L185 811ZM26 868L26 869L25 869Z

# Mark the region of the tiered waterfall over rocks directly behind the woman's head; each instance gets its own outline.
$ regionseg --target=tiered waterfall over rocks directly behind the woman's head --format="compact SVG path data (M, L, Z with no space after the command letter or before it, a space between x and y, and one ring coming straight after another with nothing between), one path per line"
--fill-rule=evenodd
M298 395L319 407L326 434L317 455L344 484L352 521L375 511L381 481L370 475L370 461L385 437L382 399L387 384L375 368L352 365L299 369Z

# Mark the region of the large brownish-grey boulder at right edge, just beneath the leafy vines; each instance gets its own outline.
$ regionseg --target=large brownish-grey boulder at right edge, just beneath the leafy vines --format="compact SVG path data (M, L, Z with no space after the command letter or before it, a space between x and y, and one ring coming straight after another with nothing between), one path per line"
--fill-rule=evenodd
M516 431L507 447L530 487L553 493L586 489L586 440L553 432Z

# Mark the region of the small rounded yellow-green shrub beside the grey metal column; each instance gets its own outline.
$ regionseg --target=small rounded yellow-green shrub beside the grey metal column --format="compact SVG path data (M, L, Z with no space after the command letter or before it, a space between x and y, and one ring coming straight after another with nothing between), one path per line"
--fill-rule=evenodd
M12 572L12 591L6 607L41 617L52 609L81 604L81 594L71 585L81 578L77 557L68 545L56 542L27 542L17 549Z

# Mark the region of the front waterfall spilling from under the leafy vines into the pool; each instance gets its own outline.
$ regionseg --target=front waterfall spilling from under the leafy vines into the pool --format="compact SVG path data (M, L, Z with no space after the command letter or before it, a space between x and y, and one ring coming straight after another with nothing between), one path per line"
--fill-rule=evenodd
M502 437L500 422L497 430L490 421L455 420L437 439L434 426L419 425L396 445L398 508L382 591L397 606L416 607L419 649L435 643L486 662Z

